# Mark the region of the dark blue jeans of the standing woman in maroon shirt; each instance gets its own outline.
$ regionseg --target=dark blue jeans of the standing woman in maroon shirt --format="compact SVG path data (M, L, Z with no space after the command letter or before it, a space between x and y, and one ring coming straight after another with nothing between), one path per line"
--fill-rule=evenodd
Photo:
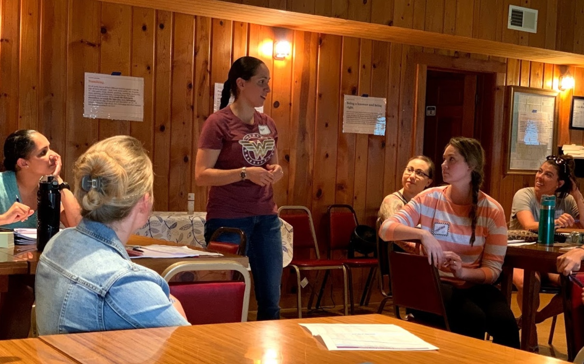
M252 268L258 321L280 318L280 283L282 280L282 236L277 215L260 215L238 219L210 219L205 223L205 240L221 228L238 228L247 239L246 255ZM221 242L238 243L239 235L224 233Z

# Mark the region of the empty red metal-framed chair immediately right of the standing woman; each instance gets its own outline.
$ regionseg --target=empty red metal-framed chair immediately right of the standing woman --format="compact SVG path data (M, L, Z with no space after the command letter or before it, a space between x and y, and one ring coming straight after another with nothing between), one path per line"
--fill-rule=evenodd
M282 212L286 212L283 214ZM293 212L296 211L296 212ZM341 269L343 271L343 305L345 307L345 315L347 315L347 270L344 260L340 259L321 259L320 252L317 243L317 234L314 231L314 224L312 223L312 214L310 210L304 206L282 206L278 209L278 216L288 224L292 225L294 229L293 236L293 246L294 246L294 256L301 255L300 252L304 250L305 252L311 252L314 249L316 259L298 259L294 257L292 262L290 262L290 267L292 267L296 272L296 280L298 284L297 298L298 298L298 318L302 318L302 296L301 296L301 279L300 272L304 270L324 270L325 273L332 269ZM318 277L318 272L317 272ZM322 281L322 286L326 284L325 277ZM312 300L314 298L314 287L312 288L310 301L308 303L308 309L310 310ZM317 306L318 307L318 306Z

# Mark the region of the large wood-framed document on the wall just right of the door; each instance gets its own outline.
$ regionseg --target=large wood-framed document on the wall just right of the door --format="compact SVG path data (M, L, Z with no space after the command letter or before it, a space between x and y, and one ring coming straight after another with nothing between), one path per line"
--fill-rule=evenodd
M554 154L558 133L558 92L509 86L507 174L530 174Z

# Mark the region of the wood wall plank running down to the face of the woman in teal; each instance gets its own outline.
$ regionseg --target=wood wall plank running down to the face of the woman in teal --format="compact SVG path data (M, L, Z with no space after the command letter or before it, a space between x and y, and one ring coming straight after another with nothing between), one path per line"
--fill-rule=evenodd
M65 162L65 110L67 109L67 28L69 11L67 0L41 2L39 130L61 154ZM65 77L64 77L65 75ZM1 81L0 81L1 82ZM63 178L69 176L71 166L64 166Z

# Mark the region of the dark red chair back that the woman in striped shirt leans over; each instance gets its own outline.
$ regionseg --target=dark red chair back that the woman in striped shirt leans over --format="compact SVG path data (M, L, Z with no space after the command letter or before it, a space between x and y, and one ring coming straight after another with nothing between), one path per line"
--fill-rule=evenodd
M399 307L436 314L442 316L444 327L450 331L436 267L428 264L427 256L395 252L391 246L389 255L395 317L401 318Z

